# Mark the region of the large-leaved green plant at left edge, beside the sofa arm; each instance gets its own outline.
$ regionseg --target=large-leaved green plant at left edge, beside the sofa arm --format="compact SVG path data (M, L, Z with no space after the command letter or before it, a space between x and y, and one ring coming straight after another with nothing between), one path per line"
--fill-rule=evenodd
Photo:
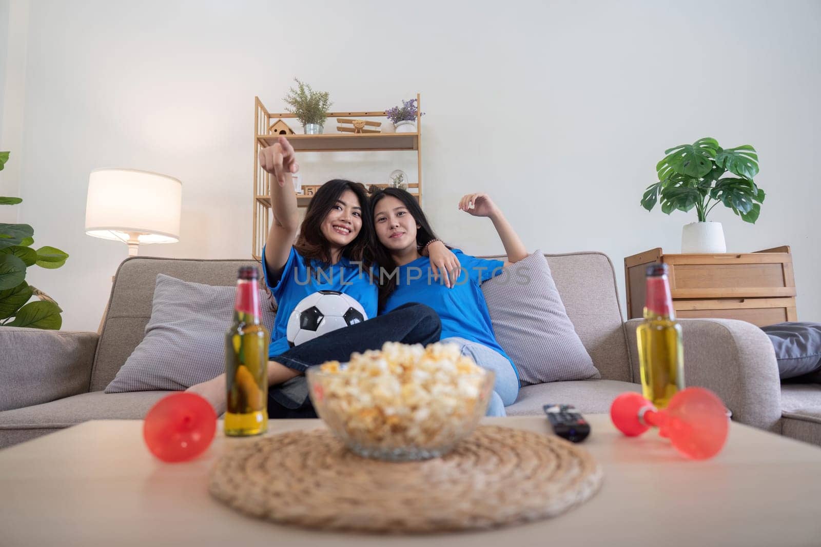
M0 152L0 171L9 153ZM21 198L0 197L0 205L16 205ZM34 229L28 224L0 222L0 326L28 326L36 329L59 329L62 309L48 294L25 282L27 267L53 270L66 263L67 253L58 248L31 248ZM31 297L38 300L29 302Z

